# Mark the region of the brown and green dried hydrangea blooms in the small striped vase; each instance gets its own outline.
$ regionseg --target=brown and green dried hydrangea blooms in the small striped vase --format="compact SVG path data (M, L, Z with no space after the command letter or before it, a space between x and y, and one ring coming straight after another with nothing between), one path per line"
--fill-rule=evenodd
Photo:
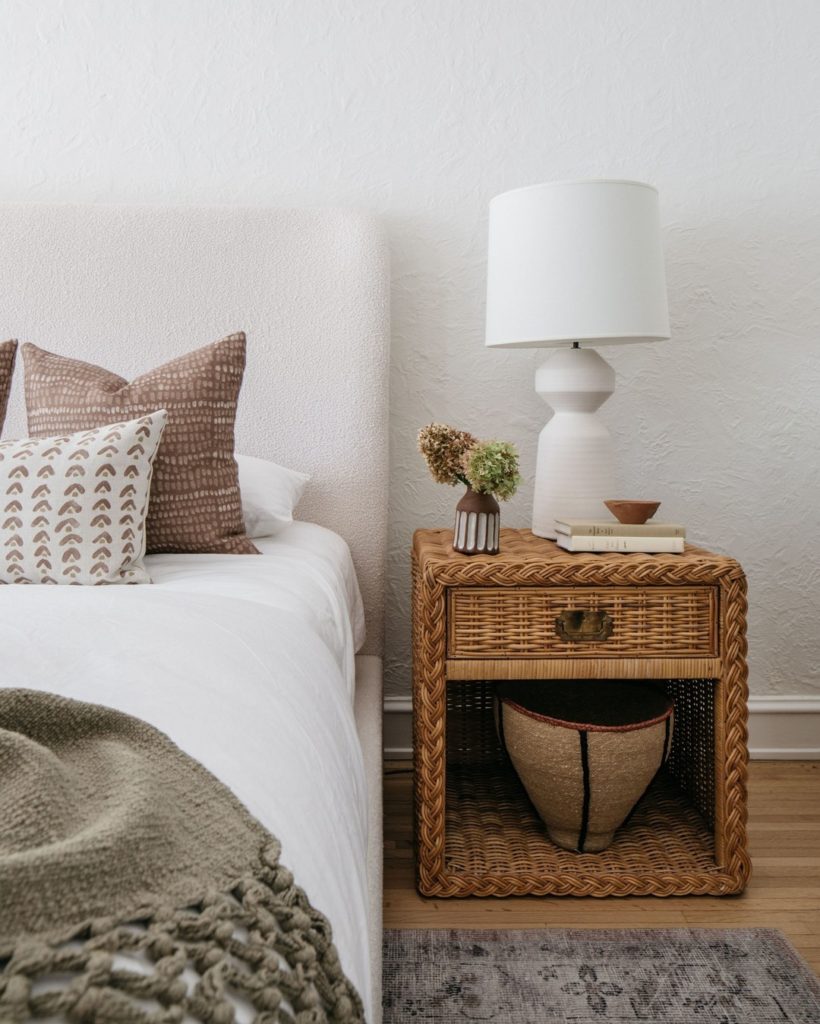
M419 451L438 483L464 483L507 501L521 482L518 453L507 441L480 441L466 430L431 423L419 431Z

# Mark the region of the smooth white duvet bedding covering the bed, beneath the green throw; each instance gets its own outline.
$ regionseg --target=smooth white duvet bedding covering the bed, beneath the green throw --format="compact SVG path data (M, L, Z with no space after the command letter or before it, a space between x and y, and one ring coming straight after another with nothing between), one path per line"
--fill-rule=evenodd
M370 1019L358 586L323 527L255 543L148 556L153 586L0 587L2 685L136 715L228 785L330 919Z

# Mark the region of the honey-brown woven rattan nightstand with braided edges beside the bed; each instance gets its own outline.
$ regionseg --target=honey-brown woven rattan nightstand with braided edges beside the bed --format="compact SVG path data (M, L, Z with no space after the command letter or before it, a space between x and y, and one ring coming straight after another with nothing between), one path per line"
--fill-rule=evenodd
M495 556L457 554L451 540L424 529L413 546L419 891L741 892L750 865L740 565L693 547L569 554L529 530L503 530ZM606 638L589 611L608 613ZM493 681L573 678L653 679L675 699L666 769L596 854L549 841L493 721Z

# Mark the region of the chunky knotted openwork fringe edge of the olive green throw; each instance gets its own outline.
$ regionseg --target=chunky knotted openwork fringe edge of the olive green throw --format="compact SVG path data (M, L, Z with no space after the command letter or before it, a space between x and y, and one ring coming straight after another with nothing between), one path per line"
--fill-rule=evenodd
M98 918L68 941L18 941L0 959L0 1021L42 1017L90 1024L233 1024L234 1001L255 1024L359 1024L331 926L268 843L258 870L182 908ZM134 958L134 969L123 967Z

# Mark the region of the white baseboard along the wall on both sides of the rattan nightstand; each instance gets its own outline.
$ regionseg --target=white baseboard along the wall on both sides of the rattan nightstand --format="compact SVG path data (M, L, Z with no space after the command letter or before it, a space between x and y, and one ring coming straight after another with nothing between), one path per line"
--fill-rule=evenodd
M749 756L758 761L820 760L820 696L751 696ZM385 697L384 753L395 760L413 755L413 701Z

